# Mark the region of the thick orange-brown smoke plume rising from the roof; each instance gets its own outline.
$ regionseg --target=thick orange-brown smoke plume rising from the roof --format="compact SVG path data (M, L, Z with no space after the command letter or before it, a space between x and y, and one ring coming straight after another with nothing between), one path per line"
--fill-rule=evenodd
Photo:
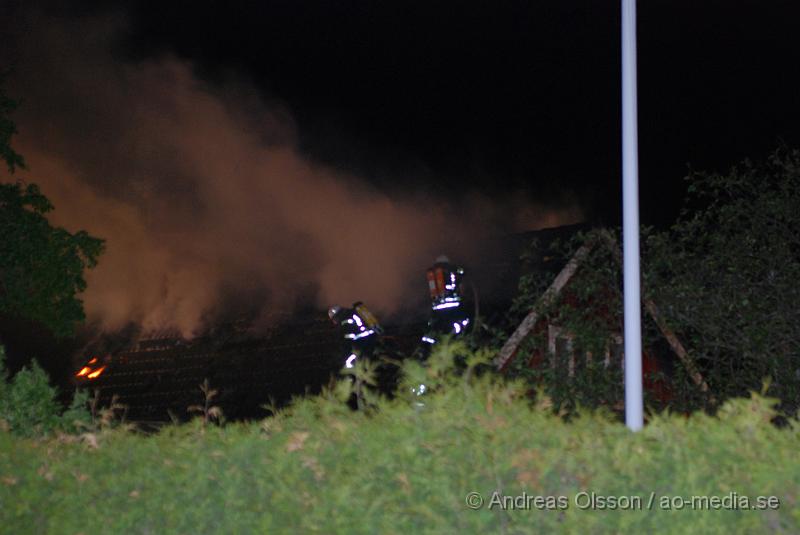
M54 223L107 240L83 296L107 329L191 335L222 309L269 318L304 299L391 313L424 295L440 252L580 216L510 194L389 198L305 158L290 112L248 84L210 85L175 57L118 59L120 17L28 15L19 28L8 92L29 170L13 178L41 185Z

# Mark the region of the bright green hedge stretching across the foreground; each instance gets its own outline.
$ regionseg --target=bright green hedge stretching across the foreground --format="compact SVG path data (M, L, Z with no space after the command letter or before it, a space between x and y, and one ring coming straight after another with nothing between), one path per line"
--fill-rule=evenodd
M365 395L360 412L342 402L351 384L343 382L261 422L198 418L154 436L110 427L41 439L0 432L0 525L9 533L800 531L800 426L772 425L770 400L732 400L715 417L653 416L633 434L603 413L565 422L546 399L532 404L521 383L476 376L480 355L457 376L450 363L460 351L451 346L427 369L407 363L401 394ZM358 374L369 382L369 370ZM431 389L424 404L402 394L420 379ZM466 502L471 492L484 499L477 509ZM504 510L497 498L490 507L495 492L525 493L530 508ZM583 508L591 493L594 508ZM765 510L665 509L691 496L775 498ZM633 510L599 509L609 502L597 497L626 497L617 505Z

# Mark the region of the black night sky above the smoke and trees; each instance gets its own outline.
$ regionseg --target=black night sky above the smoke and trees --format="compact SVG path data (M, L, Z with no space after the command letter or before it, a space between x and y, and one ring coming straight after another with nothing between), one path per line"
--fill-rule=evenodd
M642 219L687 164L800 144L800 10L639 5ZM200 2L133 10L128 53L170 50L288 103L301 147L386 188L572 193L619 212L618 2ZM386 172L391 169L392 172ZM397 176L411 177L398 185Z

